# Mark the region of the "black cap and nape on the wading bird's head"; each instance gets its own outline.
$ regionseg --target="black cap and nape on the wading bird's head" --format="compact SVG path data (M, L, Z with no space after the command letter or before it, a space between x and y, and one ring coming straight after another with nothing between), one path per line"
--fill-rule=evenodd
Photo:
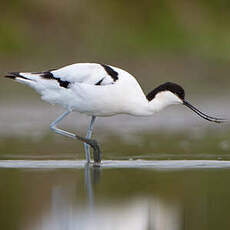
M154 90L152 90L150 93L146 95L147 100L151 101L152 99L155 98L155 96L158 93L162 91L171 91L172 93L176 94L180 99L184 100L185 97L184 89L180 85L173 82L166 82L156 87Z

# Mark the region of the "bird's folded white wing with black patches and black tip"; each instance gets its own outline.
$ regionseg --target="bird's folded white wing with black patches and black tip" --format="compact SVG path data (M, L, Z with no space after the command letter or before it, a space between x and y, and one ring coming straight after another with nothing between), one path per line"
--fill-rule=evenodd
M109 65L78 63L45 72L12 72L6 77L16 79L19 82L31 86L42 83L43 86L46 85L49 87L49 85L56 85L54 84L56 82L60 87L69 88L74 83L85 83L90 85L114 84L119 79L117 71L118 68Z

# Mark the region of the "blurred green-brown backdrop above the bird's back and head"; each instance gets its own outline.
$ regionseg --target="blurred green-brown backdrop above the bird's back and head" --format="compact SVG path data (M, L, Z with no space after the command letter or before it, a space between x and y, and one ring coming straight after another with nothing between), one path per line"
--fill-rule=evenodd
M226 0L2 0L1 71L102 62L147 91L166 80L193 93L228 91L229 28Z

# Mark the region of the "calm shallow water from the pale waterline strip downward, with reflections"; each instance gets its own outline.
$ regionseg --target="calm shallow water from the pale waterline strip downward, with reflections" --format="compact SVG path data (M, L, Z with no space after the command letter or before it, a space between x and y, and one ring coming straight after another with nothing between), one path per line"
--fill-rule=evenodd
M229 229L228 161L0 161L2 229ZM4 168L5 167L5 168Z

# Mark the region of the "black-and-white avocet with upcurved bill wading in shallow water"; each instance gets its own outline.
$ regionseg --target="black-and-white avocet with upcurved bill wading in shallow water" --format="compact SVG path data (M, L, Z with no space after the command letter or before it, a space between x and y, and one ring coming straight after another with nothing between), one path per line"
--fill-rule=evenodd
M91 138L96 117L117 114L151 116L170 105L182 104L208 121L225 121L209 116L190 104L185 99L184 89L177 83L160 84L145 95L133 75L107 64L76 63L43 72L10 72L5 77L32 87L42 100L64 107L65 112L50 124L50 128L58 134L82 141L88 163L91 162L90 146L94 163L101 162L99 144ZM57 127L71 112L91 117L85 137Z

